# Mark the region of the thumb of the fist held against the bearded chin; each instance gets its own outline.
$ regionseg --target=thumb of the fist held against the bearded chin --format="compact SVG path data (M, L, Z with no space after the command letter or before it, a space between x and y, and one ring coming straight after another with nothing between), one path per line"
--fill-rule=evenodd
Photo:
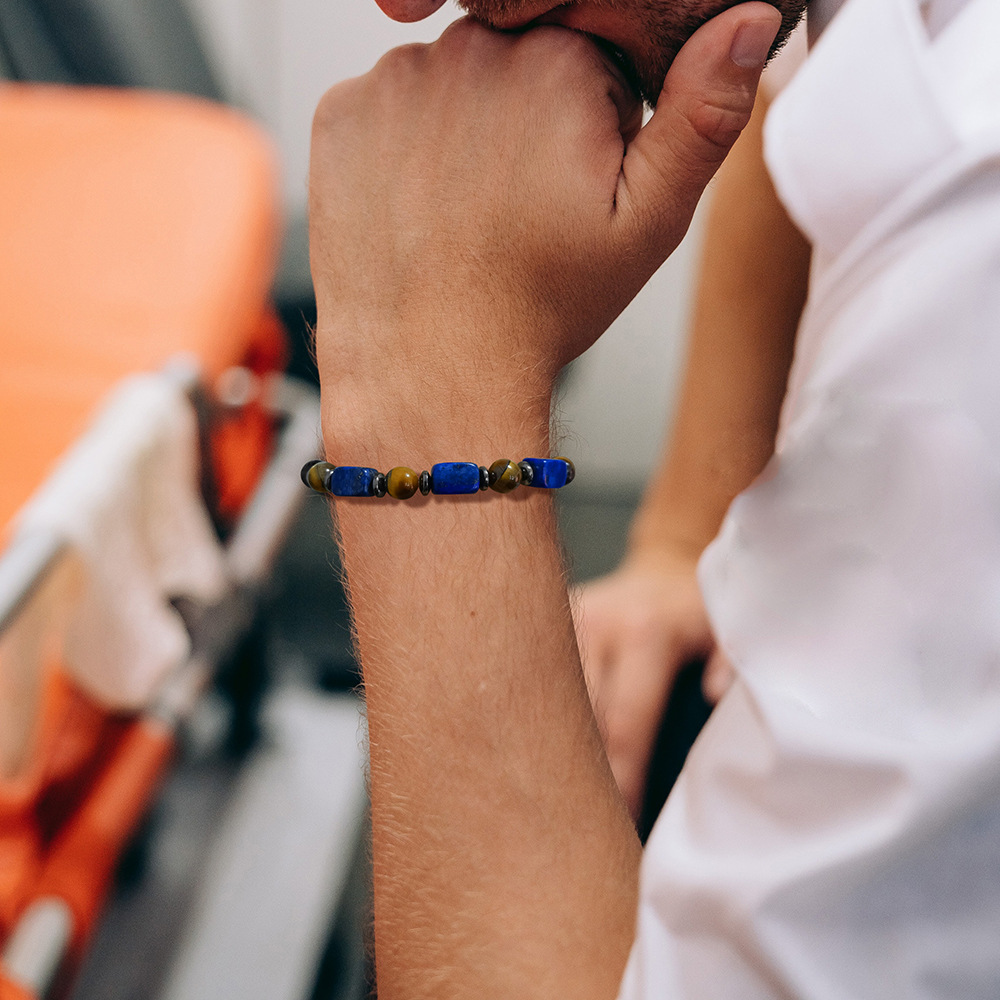
M750 120L780 27L778 11L757 2L703 24L678 52L656 111L628 147L618 205L663 256L680 242L705 185Z

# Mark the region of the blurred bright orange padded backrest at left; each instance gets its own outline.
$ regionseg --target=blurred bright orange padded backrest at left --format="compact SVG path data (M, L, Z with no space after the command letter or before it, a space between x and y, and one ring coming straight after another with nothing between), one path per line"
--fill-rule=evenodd
M119 379L273 341L278 223L267 140L207 102L5 84L0 135L2 546Z

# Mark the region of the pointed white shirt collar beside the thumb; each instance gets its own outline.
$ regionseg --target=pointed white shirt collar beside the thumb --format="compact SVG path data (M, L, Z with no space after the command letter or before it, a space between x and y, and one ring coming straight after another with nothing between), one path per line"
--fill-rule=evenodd
M847 0L775 101L768 166L820 258L957 145L930 44L916 0Z

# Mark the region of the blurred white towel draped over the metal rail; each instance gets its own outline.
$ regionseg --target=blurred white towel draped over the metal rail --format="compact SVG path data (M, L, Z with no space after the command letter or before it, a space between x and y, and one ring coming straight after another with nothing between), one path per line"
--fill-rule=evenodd
M113 709L150 701L189 652L173 597L211 601L226 578L198 487L198 430L177 381L124 380L19 517L77 551L87 585L65 665Z

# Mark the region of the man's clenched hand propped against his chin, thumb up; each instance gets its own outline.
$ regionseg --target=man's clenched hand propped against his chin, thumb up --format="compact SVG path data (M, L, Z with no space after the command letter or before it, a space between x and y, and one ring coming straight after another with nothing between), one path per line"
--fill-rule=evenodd
M310 181L324 389L547 392L683 236L778 23L750 3L701 28L641 131L607 57L555 27L459 21L329 91Z

